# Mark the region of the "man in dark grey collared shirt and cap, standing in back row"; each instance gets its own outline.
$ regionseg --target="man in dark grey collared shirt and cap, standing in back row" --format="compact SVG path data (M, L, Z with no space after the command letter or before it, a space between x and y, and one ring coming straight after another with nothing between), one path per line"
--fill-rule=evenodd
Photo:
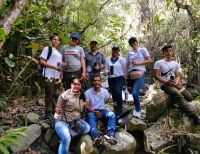
M95 39L92 39L90 42L90 52L86 53L86 88L89 89L92 87L92 78L95 75L100 76L101 70L105 68L105 57L98 51L98 42Z

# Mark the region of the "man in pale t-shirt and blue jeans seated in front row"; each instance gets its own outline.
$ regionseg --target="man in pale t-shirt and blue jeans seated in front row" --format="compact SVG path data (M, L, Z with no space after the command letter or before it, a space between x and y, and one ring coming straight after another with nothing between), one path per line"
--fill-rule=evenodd
M95 145L101 143L100 133L96 127L96 121L105 117L107 120L106 135L104 135L106 141L111 145L117 144L115 139L115 113L105 108L106 102L111 102L111 95L107 89L101 88L101 77L94 76L92 81L93 87L85 92L86 96L86 108L88 110L88 123L91 127L91 136Z

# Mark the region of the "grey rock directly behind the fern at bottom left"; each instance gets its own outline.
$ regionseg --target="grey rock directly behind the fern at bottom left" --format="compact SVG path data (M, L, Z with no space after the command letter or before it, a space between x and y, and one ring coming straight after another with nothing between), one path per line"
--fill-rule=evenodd
M13 153L20 153L28 149L28 147L34 143L37 138L41 135L42 128L38 124L30 125L24 133L26 136L18 136L17 140L21 143L20 145L10 145L10 150Z

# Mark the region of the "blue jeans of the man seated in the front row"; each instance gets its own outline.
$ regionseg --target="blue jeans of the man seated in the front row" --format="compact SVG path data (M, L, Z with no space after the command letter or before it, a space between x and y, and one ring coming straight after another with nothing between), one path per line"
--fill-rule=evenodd
M107 122L107 131L106 133L108 135L114 135L115 129L116 129L116 123L115 123L115 113L108 111L107 109L96 109L99 112L102 113L103 117L106 118ZM93 112L88 113L88 123L90 125L90 132L92 135L92 138L95 139L100 136L99 131L96 127L96 120L99 119L96 117L96 115Z

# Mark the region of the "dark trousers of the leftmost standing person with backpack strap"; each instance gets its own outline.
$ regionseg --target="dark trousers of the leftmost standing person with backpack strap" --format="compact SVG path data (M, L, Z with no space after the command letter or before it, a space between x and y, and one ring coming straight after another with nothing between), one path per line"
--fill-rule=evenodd
M58 89L61 83L55 84L50 82L50 80L45 80L45 113L53 113L55 110L55 105L59 96Z

